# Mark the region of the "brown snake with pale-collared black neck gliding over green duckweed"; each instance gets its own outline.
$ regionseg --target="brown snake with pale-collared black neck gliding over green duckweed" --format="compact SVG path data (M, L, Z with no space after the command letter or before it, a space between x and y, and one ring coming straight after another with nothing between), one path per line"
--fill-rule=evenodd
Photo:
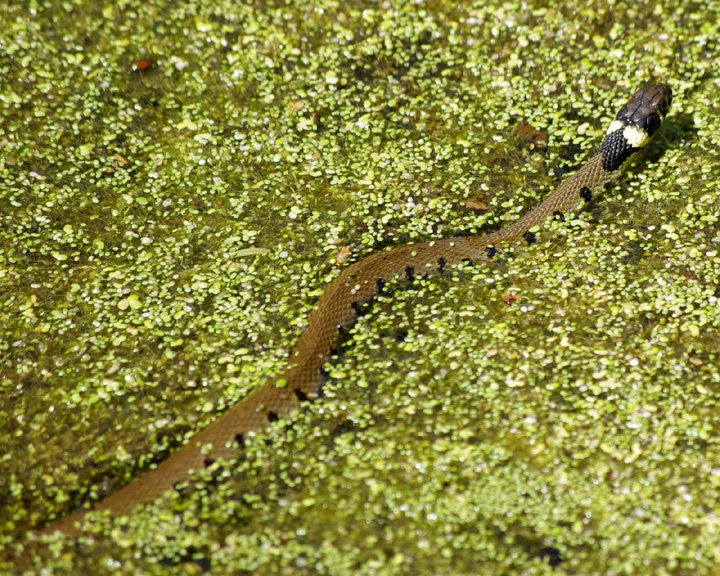
M345 268L328 284L309 316L286 371L230 408L187 444L134 482L98 502L92 509L112 515L129 515L139 505L160 500L175 485L220 458L242 448L243 437L289 417L300 403L318 395L322 367L338 345L343 329L358 317L360 307L395 279L442 273L463 261L491 260L505 243L532 243L534 232L549 218L563 214L596 197L619 174L634 152L652 138L671 103L671 90L663 84L646 86L620 110L590 160L537 208L514 223L485 236L433 240L373 254ZM81 510L50 524L41 534L61 531L82 533Z

